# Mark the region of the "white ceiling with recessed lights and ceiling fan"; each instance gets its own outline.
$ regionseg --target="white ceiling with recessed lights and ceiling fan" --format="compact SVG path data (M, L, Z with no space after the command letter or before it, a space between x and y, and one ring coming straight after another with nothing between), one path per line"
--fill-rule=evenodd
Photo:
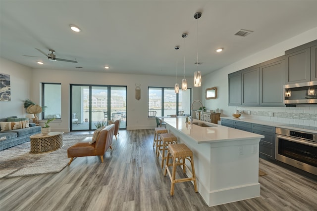
M166 76L178 61L182 77L185 55L192 77L198 32L206 75L317 27L316 9L317 0L0 0L0 56L31 68ZM254 32L235 36L240 29ZM35 48L78 64L49 61Z

